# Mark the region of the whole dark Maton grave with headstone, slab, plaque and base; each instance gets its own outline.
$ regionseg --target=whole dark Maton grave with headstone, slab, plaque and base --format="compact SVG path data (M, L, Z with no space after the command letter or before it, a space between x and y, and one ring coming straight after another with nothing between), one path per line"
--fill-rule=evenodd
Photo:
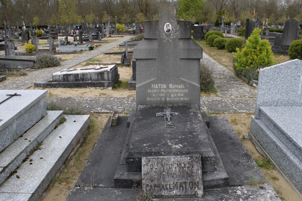
M241 187L263 174L226 118L200 111L202 48L191 22L160 5L145 29L133 50L136 112L116 126L108 119L66 200L138 200L140 188L164 200L280 200L270 184Z

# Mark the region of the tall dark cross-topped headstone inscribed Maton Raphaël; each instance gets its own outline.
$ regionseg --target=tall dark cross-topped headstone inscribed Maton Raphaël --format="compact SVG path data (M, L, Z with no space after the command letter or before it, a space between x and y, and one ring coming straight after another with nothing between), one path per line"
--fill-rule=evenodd
M145 38L133 49L136 105L198 104L202 48L191 22L177 20L176 5L160 5L159 20L145 21Z

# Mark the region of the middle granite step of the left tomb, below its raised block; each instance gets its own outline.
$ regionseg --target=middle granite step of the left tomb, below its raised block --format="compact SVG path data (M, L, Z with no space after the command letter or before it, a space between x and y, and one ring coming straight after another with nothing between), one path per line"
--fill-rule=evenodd
M31 150L42 142L63 117L63 111L47 111L47 115L37 124L23 133L0 153L0 184L30 154Z

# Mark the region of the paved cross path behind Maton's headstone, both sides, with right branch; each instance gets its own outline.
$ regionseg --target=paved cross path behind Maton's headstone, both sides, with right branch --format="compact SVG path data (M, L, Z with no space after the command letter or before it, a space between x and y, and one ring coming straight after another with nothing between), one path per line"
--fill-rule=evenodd
M218 64L203 53L201 62L210 64L214 70L215 86L218 97L201 97L201 111L211 113L248 113L255 112L257 90L239 80L231 71ZM58 105L76 105L89 113L129 113L135 111L136 98L107 97L60 97L47 98L47 102Z

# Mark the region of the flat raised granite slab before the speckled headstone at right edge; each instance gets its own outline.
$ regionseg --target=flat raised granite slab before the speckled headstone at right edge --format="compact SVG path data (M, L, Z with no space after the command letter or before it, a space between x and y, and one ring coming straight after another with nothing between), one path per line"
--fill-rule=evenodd
M260 121L302 160L302 107L262 106L260 112Z

